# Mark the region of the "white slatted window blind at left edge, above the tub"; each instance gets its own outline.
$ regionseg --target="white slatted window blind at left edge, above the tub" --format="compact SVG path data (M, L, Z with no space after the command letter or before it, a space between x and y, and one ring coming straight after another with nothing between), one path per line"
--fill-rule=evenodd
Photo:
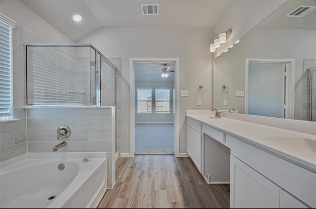
M12 113L12 27L0 21L0 115Z

